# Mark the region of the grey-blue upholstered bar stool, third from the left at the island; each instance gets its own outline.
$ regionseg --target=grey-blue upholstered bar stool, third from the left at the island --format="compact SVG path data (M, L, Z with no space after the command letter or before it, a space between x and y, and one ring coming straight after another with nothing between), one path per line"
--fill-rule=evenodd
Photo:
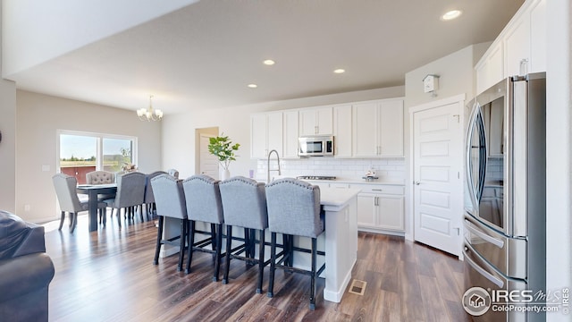
M268 227L266 212L265 184L242 176L235 176L219 184L221 199L223 199L224 225L226 225L226 266L224 268L223 284L229 281L231 258L245 260L257 264L258 280L257 293L262 292L262 280L265 269L265 229ZM244 242L231 249L232 227L245 229ZM254 252L255 235L259 233L258 258ZM252 239L251 239L252 237ZM240 254L245 254L240 256Z

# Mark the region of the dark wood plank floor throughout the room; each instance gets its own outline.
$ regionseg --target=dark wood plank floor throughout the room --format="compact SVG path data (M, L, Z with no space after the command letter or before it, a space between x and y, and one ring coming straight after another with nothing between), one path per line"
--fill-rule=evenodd
M462 263L403 238L359 233L353 277L364 295L324 301L319 279L315 311L307 309L309 277L277 271L274 297L256 294L256 269L231 261L229 284L211 282L212 257L198 253L192 273L176 271L176 256L152 264L153 221L108 220L88 233L80 216L75 233L46 225L46 249L55 264L50 321L465 321ZM268 274L265 270L265 290ZM222 276L222 275L221 275Z

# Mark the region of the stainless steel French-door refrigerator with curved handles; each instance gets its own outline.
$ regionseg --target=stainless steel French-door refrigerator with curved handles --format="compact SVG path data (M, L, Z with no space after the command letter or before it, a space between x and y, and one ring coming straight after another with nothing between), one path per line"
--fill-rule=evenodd
M544 73L511 77L469 103L465 283L466 289L486 290L491 295L489 305L542 305L532 303L527 294L545 292L545 88ZM499 294L514 297L507 301ZM473 317L475 321L544 318L544 313L492 308Z

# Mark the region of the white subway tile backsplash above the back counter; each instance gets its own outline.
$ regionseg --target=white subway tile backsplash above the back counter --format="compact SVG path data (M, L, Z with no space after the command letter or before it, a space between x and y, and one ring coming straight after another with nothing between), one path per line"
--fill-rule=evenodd
M334 157L303 157L281 159L282 176L333 175L343 179L361 179L370 169L383 181L405 181L405 158L339 159ZM276 168L276 159L270 160L270 168ZM256 177L265 180L267 160L257 161ZM273 172L271 175L275 175Z

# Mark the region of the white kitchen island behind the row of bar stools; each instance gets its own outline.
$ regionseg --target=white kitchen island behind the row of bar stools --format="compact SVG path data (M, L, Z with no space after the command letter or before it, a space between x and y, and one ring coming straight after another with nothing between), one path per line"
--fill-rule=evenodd
M325 212L325 232L318 236L318 250L324 250L325 256L318 256L317 267L325 262L321 277L325 278L324 300L340 302L346 287L351 280L351 270L357 260L357 193L359 189L320 188L320 204ZM180 232L180 223L172 218L165 218L164 236L175 236ZM197 223L198 229L208 228ZM237 227L238 228L238 227ZM242 236L242 229L233 231L233 235ZM266 230L266 241L270 240L270 232ZM309 238L294 236L294 245L310 248ZM178 253L179 249L165 245L161 257ZM270 247L265 251L266 259L270 258ZM187 258L186 258L187 259ZM310 254L294 252L294 266L309 269ZM264 285L266 287L266 285Z

